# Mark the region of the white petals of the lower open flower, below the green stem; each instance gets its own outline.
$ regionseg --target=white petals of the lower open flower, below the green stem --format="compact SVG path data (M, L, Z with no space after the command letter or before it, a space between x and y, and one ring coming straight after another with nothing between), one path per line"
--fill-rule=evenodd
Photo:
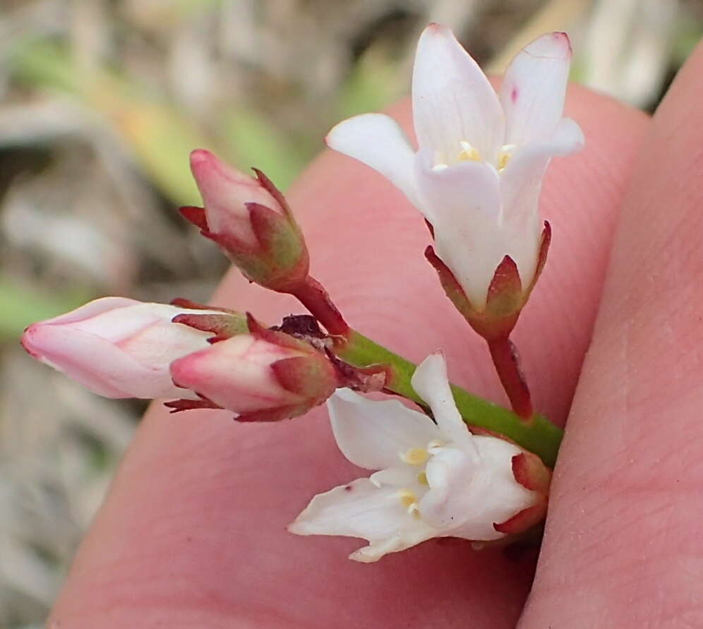
M467 429L441 354L423 361L412 385L437 424L397 400L374 402L348 389L330 398L344 456L380 472L315 496L290 532L361 537L369 545L350 558L372 562L431 537L498 539L504 534L494 524L539 503L539 493L513 475L512 459L522 450Z

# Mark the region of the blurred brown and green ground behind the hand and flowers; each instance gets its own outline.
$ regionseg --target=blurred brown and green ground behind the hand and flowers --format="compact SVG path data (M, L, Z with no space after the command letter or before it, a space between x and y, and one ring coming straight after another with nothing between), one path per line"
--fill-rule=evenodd
M286 188L340 119L407 93L428 22L500 72L566 30L573 78L652 111L701 0L0 0L0 628L42 625L144 405L35 363L28 323L107 294L205 301L188 152Z

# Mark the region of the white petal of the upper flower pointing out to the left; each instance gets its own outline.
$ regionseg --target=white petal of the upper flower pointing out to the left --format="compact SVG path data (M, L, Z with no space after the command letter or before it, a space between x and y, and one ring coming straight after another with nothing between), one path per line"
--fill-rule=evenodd
M385 176L417 205L414 151L397 122L385 114L361 114L332 127L327 145Z

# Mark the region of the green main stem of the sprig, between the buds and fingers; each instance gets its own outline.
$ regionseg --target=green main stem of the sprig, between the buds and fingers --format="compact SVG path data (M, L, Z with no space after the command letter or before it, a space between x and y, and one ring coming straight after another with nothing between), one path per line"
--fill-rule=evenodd
M390 352L371 339L351 330L347 342L335 352L341 359L358 367L371 364L390 365L392 376L386 388L393 393L423 403L410 385L416 365ZM554 467L563 431L543 415L535 413L529 421L517 417L512 411L471 395L467 390L452 385L457 408L464 421L495 433L500 433L526 450L541 457L549 467Z

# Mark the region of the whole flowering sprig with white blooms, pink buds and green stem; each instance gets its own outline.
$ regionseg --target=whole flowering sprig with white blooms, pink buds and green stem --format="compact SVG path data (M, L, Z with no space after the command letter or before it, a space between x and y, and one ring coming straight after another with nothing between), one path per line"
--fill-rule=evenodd
M563 118L570 58L564 33L543 35L517 54L495 92L452 32L431 24L412 83L418 149L383 114L342 121L327 137L421 212L433 239L425 256L486 340L512 409L450 385L437 348L416 366L350 328L311 277L282 193L262 172L247 176L206 150L191 153L203 207L181 214L248 280L291 294L309 314L270 326L256 313L185 299L107 297L30 325L25 349L100 395L167 398L172 412L305 421L327 402L342 453L377 471L315 496L289 530L366 539L351 555L357 561L432 537L484 542L527 531L546 514L562 431L534 411L510 334L551 241L538 207L548 162L584 144ZM361 395L371 392L396 399Z

